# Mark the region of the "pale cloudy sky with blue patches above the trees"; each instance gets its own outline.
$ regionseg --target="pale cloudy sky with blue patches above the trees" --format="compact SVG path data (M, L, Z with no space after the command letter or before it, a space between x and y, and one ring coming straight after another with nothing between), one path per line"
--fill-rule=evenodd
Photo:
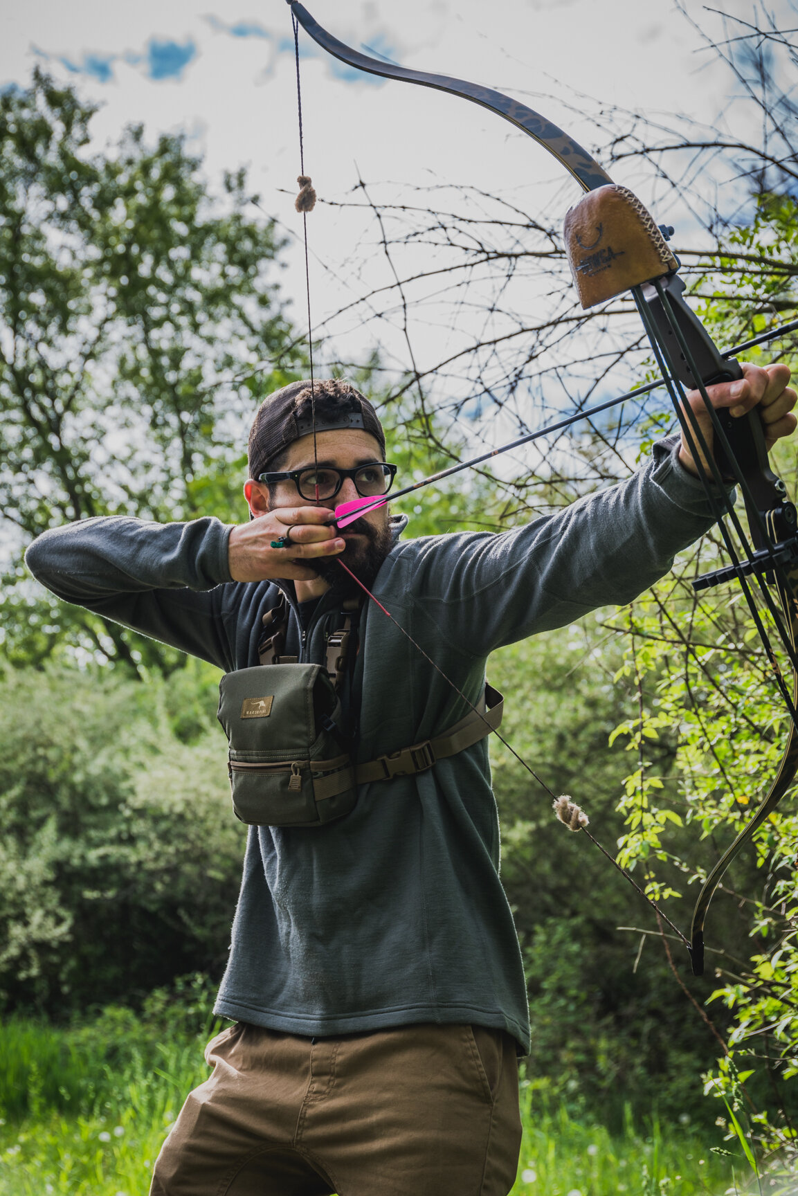
M687 17L668 0L307 0L341 41L510 92L587 146L595 136L589 115L609 104L641 108L654 120L675 111L706 115L711 127L723 120L729 81L692 24L721 36L720 18L696 0L682 7ZM793 11L791 0L770 7ZM754 8L750 0L724 2L727 18L748 20ZM739 29L733 20L729 28ZM450 183L516 196L528 210L538 202L536 188L540 202L547 185L560 188L564 212L578 197L554 159L494 115L354 72L301 30L300 45L305 170L322 200L351 197L359 177L397 201L413 187ZM293 209L296 68L285 0L6 0L0 87L24 86L37 63L102 105L92 124L98 148L141 122L151 139L183 133L203 154L214 187L224 170L245 165L262 209L292 240L281 285L296 301L296 318L304 318L301 218ZM632 169L629 177L623 170L614 177L651 202L656 179ZM370 274L364 263L374 230L361 209L322 203L309 218L309 236L316 324L340 306L343 292L378 283L385 264L374 254ZM347 274L355 260L358 273ZM365 352L372 330L348 327L341 335ZM396 353L398 361L401 347Z

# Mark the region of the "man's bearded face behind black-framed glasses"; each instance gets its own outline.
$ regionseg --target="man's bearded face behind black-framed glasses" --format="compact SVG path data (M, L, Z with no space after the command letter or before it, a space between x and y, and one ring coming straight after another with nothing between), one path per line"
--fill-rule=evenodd
M316 448L313 450L313 437L301 437L294 440L286 451L280 463L279 472L288 472L297 469L311 469L318 465L329 469L357 469L359 465L367 465L371 462L383 459L379 443L360 428L346 428L336 432L317 432ZM268 495L268 488L261 487ZM274 511L279 507L297 506L321 506L334 511L341 502L360 498L355 484L351 477L343 480L339 493L323 502L315 502L312 499L301 498L293 482L278 482L273 488L274 494L268 495L268 508ZM346 549L340 554L340 559L352 572L367 586L372 584L379 570L379 566L388 556L392 536L389 526L388 505L367 511L364 515L349 524L339 532L346 541ZM336 565L335 557L316 559L306 562L318 572L330 585L339 585L346 579L346 573ZM351 582L352 584L352 582Z

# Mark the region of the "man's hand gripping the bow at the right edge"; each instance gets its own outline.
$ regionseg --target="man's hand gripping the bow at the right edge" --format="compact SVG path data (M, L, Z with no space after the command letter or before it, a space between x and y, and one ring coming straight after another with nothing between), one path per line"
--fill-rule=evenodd
M753 408L757 408L765 426L765 439L768 452L782 437L790 437L796 431L798 420L792 414L792 409L798 402L794 390L787 386L790 382L790 370L785 365L753 366L748 361L742 362L744 377L738 382L720 382L714 386L707 386L707 393L715 408L729 407L733 417L745 415ZM703 438L712 447L713 428L712 420L703 404L703 399L698 390L689 391L687 401L695 413ZM699 451L696 445L696 452ZM701 452L701 463L706 465L705 454ZM678 459L690 474L700 476L694 454L682 433L682 445L678 451Z

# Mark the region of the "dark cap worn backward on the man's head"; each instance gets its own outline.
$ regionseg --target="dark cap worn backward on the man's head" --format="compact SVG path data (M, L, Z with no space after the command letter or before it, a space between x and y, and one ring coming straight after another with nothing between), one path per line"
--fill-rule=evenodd
M331 401L327 388L334 386L337 395ZM316 420L310 408L311 382L288 383L281 390L267 395L257 409L249 433L249 476L257 478L268 469L269 462L285 452L288 445L300 437L316 432L337 432L345 428L361 428L379 441L383 456L385 453L385 433L377 413L365 395L355 390L351 383L341 379L316 379L313 388L323 389L323 399L316 407ZM317 399L322 398L317 393ZM319 410L319 407L322 409ZM301 415L299 414L301 410Z

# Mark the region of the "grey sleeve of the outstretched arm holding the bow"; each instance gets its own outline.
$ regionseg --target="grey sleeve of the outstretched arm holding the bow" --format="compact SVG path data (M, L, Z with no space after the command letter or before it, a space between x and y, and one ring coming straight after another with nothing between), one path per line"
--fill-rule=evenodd
M418 630L431 642L443 634L457 654L487 657L631 602L714 521L677 451L674 438L659 441L627 481L526 526L418 542L407 579Z

